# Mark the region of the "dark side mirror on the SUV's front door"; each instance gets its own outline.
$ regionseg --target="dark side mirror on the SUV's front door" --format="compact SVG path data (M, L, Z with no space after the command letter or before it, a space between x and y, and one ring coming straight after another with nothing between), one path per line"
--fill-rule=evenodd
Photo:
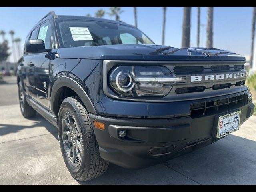
M28 53L43 53L49 52L50 49L46 49L44 41L42 39L30 39L25 45L26 52Z

